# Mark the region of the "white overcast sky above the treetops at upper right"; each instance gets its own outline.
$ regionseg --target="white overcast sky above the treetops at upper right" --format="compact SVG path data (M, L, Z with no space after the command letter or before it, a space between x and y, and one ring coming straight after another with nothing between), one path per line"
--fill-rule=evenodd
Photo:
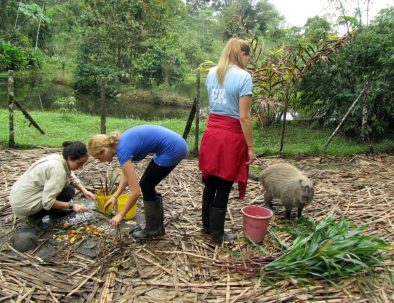
M304 26L310 17L329 16L335 13L334 6L328 0L269 0L269 2L286 18L288 26ZM357 3L356 0L348 0L347 2ZM394 6L394 0L371 0L369 19L371 20L382 8L390 5ZM362 7L365 8L365 6ZM349 15L353 15L351 10ZM366 14L364 13L364 15ZM331 21L335 22L336 20Z

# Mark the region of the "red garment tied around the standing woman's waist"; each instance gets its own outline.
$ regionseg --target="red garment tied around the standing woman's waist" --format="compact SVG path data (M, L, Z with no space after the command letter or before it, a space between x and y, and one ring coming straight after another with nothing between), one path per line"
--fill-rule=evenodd
M199 168L207 175L238 182L239 198L246 193L249 175L248 147L238 119L210 114L201 140Z

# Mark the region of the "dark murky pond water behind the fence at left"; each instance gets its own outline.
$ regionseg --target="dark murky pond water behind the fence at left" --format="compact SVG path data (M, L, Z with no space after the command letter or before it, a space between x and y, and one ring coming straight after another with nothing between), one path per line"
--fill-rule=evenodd
M181 84L171 88L183 97L193 100L196 95L195 84ZM59 97L75 96L76 110L81 113L100 115L100 98L78 94L69 86L44 81L40 77L31 77L23 83L15 79L15 100L28 111L56 111L58 107L54 102ZM204 100L205 98L205 100ZM203 87L202 104L206 104L206 92ZM0 108L8 105L7 78L0 78ZM202 105L204 106L204 105ZM191 102L188 106L156 105L138 100L120 100L107 98L107 116L116 118L133 118L141 120L161 120L170 118L187 119L190 112Z

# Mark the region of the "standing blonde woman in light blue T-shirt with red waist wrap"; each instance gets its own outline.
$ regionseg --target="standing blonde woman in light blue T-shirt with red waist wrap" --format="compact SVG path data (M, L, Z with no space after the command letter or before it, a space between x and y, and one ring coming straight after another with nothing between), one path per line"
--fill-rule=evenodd
M256 159L250 114L253 83L246 71L250 56L246 41L230 39L205 83L209 117L199 153L205 182L202 223L203 232L217 244L236 238L224 232L229 194L238 182L240 198L244 198L249 164Z

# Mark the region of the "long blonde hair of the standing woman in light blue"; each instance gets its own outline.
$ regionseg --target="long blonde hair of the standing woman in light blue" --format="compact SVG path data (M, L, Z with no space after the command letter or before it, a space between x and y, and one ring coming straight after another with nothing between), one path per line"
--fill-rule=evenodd
M242 69L245 69L242 61L242 52L250 54L250 46L248 42L238 38L231 38L228 40L220 56L219 64L216 70L216 75L220 84L223 84L224 77L230 64L235 64Z

